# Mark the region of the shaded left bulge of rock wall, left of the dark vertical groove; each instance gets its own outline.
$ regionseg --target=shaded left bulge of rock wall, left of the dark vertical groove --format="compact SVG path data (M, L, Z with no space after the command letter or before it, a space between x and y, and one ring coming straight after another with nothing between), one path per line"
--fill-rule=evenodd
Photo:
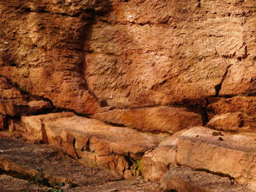
M0 75L56 107L93 113L81 74L83 39L97 1L0 1Z

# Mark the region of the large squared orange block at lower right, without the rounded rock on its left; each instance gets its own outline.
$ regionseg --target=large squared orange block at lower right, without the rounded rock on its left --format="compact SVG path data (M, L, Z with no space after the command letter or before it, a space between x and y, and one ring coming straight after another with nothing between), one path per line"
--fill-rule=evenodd
M205 169L234 177L255 190L255 134L227 134L195 127L177 142L176 161L193 169Z

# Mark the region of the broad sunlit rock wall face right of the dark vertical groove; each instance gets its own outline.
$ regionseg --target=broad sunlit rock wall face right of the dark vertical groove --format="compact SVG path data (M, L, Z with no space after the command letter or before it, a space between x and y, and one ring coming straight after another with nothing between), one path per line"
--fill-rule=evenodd
M110 106L255 93L255 1L112 1L84 75Z

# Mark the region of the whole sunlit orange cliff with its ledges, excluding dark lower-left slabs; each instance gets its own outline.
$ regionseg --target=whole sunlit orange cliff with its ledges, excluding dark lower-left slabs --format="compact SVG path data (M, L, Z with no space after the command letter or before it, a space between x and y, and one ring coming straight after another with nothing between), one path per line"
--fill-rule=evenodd
M0 136L164 190L256 191L255 10L0 0Z

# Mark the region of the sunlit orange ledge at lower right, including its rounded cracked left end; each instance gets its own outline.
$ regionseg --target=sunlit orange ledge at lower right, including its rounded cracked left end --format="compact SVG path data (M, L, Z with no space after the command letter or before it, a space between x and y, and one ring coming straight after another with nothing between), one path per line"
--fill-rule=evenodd
M173 166L234 177L236 182L255 190L255 134L231 134L206 127L179 131L159 143L159 147L143 156L145 177L159 180ZM162 149L161 149L162 148ZM168 151L165 153L163 151Z

